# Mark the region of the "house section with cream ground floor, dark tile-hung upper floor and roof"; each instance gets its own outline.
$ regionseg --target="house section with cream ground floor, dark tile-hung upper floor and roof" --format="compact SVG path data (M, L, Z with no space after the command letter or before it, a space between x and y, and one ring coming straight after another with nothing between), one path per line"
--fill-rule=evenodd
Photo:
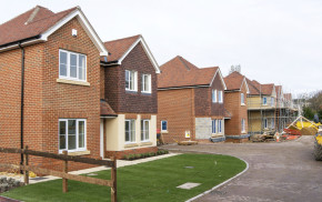
M142 36L104 42L101 132L105 156L157 151L159 65Z

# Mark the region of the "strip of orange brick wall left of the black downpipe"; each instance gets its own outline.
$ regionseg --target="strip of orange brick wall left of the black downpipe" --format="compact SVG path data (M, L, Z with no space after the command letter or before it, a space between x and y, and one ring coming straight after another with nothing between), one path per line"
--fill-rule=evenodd
M0 147L20 148L21 50L0 53ZM0 162L19 163L20 155L0 153Z

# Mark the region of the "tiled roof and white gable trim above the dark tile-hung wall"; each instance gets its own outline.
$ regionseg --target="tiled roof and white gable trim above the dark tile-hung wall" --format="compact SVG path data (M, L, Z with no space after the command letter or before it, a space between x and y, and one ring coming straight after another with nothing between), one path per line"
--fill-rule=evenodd
M143 50L145 51L147 55L149 57L151 63L153 64L155 69L155 72L160 73L159 64L141 34L104 42L105 48L110 51L110 55L108 57L107 62L117 62L118 64L121 64L124 58L127 58L127 55L139 43L142 44Z

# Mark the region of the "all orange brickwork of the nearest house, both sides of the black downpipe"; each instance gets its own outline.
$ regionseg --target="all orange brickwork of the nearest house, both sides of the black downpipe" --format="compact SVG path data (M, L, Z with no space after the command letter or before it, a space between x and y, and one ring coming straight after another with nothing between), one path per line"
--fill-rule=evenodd
M77 37L71 36L72 29L78 30ZM90 87L57 82L59 49L87 55ZM24 145L31 150L58 153L59 119L82 118L87 120L85 141L90 151L87 156L100 158L100 53L78 19L67 22L47 42L26 47L24 50ZM20 148L21 51L16 49L0 53L0 147ZM52 166L57 163L51 159L31 158L31 164ZM80 168L79 163L71 163L70 170Z

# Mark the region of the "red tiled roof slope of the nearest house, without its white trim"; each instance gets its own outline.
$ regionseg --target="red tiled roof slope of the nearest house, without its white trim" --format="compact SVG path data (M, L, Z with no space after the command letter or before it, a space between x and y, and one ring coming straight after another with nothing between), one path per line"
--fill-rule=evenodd
M77 8L54 13L37 6L0 26L0 46L38 37Z

